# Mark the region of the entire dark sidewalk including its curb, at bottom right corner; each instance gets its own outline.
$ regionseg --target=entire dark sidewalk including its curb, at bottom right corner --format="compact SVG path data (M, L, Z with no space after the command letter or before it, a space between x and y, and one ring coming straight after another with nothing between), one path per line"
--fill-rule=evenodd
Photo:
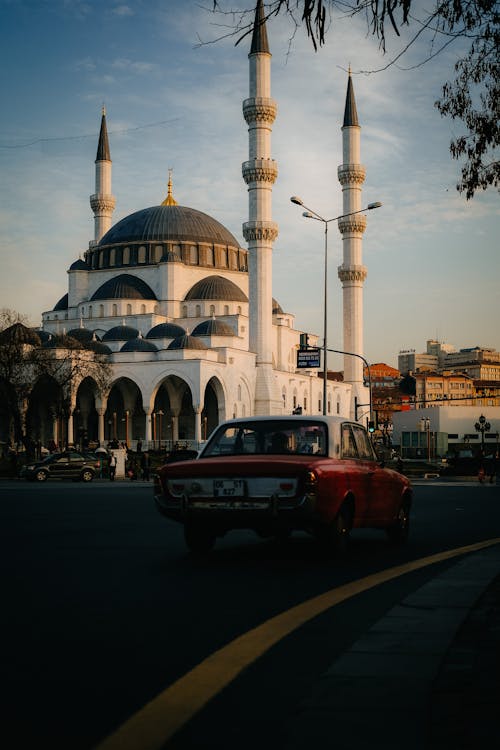
M499 675L496 545L452 564L339 656L299 707L286 750L498 745Z

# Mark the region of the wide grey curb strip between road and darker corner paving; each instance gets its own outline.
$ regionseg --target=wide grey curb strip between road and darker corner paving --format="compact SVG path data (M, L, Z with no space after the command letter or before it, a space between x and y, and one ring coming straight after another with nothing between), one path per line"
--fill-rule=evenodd
M286 750L425 748L433 682L499 569L500 545L468 554L389 610L313 686Z

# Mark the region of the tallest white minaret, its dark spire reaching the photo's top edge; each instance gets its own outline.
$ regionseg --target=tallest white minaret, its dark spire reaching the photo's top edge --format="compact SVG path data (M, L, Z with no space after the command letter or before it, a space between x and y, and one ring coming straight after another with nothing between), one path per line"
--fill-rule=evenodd
M271 204L278 168L271 158L271 130L277 107L271 99L271 54L262 0L255 9L248 59L249 98L243 102L248 161L242 165L248 185L248 221L243 224L243 236L248 243L250 350L257 356L254 412L280 414L282 401L272 359L272 252L278 226L272 221Z

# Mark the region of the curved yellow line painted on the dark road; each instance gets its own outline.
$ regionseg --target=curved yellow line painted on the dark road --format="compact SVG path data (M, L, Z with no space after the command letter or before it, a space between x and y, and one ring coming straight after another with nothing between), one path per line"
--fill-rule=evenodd
M494 544L500 537L440 552L373 573L308 599L244 633L204 659L130 717L96 750L160 750L214 696L282 638L336 604L428 565Z

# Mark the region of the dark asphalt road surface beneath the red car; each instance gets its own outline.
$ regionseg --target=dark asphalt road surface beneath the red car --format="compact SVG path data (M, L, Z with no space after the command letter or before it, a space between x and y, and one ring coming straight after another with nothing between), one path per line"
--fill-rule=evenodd
M0 482L0 741L9 750L96 747L270 618L378 571L500 536L499 501L498 487L416 486L402 550L362 531L347 559L325 561L305 535L282 547L234 532L201 562L156 512L151 485ZM328 664L449 564L398 576L292 629L250 658L167 747L284 747L297 703Z

